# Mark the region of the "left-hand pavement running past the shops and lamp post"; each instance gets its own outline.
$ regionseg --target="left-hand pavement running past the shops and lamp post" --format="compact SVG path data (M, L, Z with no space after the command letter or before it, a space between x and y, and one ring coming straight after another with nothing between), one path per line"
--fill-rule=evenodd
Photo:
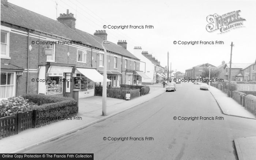
M93 96L79 99L79 112L76 115L80 120L63 120L49 125L27 129L14 136L0 140L1 153L20 153L35 146L56 140L67 134L76 132L94 123L108 119L118 113L138 106L165 92L161 84L149 85L150 92L132 100L107 98L106 116L102 116L102 97Z

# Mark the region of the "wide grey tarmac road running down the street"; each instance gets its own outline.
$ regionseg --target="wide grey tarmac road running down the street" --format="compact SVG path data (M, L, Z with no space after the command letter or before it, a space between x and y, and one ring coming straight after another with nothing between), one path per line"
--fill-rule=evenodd
M210 92L199 85L176 85L175 92L24 153L94 153L95 160L237 159L233 140L256 136L256 120L221 114Z

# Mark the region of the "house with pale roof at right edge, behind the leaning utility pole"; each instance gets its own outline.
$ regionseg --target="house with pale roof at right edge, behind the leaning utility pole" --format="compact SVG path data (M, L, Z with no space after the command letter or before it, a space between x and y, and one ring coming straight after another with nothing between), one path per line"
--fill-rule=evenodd
M229 69L230 64L227 63L223 66L224 78L229 80ZM256 81L256 60L254 63L240 64L232 63L231 64L231 75L230 78L232 81Z

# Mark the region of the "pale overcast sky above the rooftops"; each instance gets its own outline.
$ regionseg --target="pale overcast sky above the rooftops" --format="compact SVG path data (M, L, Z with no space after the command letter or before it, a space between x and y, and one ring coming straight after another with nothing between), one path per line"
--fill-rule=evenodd
M127 49L134 46L152 54L162 66L185 73L199 64L221 65L230 61L231 42L234 43L232 63L253 63L256 60L256 1L244 0L8 0L8 2L56 20L57 16L73 13L76 28L93 34L106 30L108 41L127 41ZM243 26L218 34L208 32L208 15L223 15L240 10ZM147 29L112 29L103 25L153 25ZM223 41L222 45L178 45L173 41Z

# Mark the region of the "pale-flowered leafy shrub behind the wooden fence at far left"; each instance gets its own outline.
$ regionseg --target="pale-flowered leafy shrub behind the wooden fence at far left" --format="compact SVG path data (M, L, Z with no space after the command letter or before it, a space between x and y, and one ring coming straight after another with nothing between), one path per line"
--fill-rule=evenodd
M0 101L0 117L15 115L18 112L31 110L31 108L29 100L22 96L3 99Z

